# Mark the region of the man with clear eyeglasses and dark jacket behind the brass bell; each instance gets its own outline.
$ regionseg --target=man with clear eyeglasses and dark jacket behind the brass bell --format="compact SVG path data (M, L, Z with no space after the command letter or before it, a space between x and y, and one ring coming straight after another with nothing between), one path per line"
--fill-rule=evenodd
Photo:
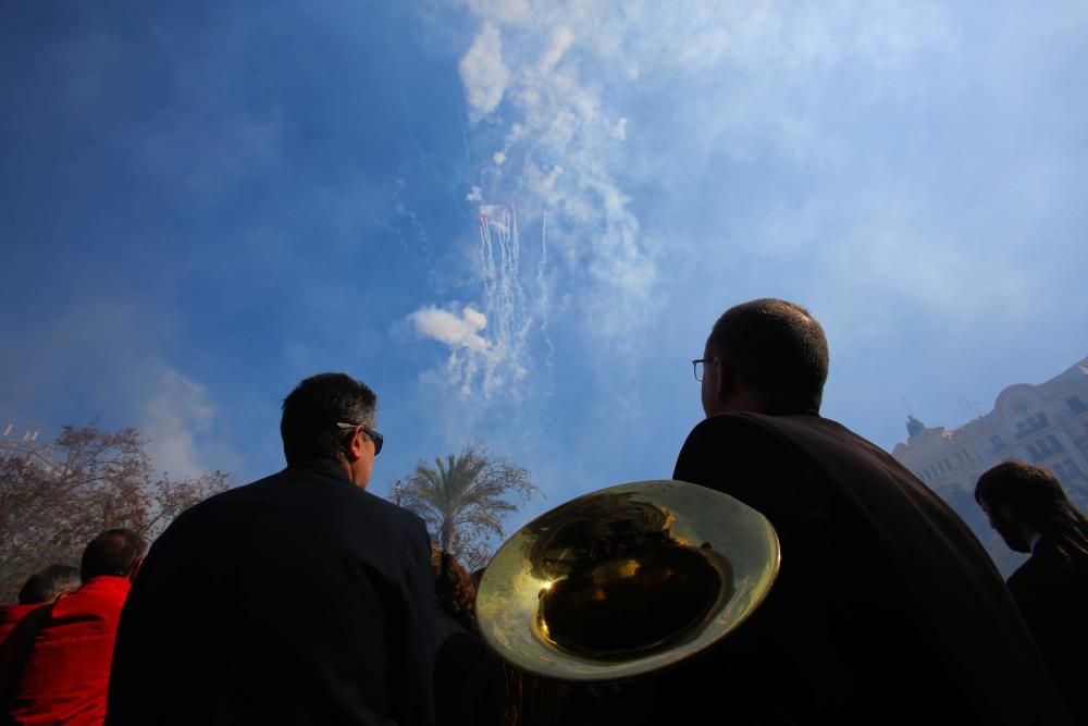
M761 608L665 677L675 723L1061 724L1053 682L989 557L941 500L819 407L827 342L796 305L726 311L706 419L673 478L762 512L782 550Z

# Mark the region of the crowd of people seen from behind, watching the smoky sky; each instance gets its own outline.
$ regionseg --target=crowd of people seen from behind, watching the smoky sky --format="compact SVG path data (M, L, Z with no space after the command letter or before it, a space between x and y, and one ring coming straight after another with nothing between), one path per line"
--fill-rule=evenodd
M91 541L0 612L7 723L1088 723L1088 525L1019 462L976 500L1030 558L1007 585L886 452L819 415L824 331L759 299L693 361L706 418L673 479L763 513L781 542L756 613L638 680L576 686L484 647L477 582L413 514L367 492L374 393L342 373L283 404L287 467L191 507L149 551Z

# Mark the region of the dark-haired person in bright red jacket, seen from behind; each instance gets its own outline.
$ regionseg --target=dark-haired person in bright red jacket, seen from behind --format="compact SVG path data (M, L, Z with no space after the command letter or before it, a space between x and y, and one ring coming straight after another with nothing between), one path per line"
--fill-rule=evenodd
M83 586L12 630L0 647L7 723L102 724L118 622L146 549L131 530L102 532L84 550Z

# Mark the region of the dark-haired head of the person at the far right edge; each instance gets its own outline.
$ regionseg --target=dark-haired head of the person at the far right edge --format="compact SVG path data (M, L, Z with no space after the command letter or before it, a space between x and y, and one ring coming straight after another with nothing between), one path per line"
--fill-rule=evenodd
M1046 469L1024 462L999 464L978 478L975 501L1012 550L1029 552L1031 538L1041 534L1067 555L1076 551L1085 554L1084 515Z

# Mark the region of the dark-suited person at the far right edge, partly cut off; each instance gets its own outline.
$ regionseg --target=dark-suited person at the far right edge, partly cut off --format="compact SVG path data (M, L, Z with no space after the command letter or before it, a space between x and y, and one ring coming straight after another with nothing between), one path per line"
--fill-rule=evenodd
M1070 711L1088 723L1088 522L1052 473L1023 462L979 477L975 500L1005 544L1031 553L1009 591Z

